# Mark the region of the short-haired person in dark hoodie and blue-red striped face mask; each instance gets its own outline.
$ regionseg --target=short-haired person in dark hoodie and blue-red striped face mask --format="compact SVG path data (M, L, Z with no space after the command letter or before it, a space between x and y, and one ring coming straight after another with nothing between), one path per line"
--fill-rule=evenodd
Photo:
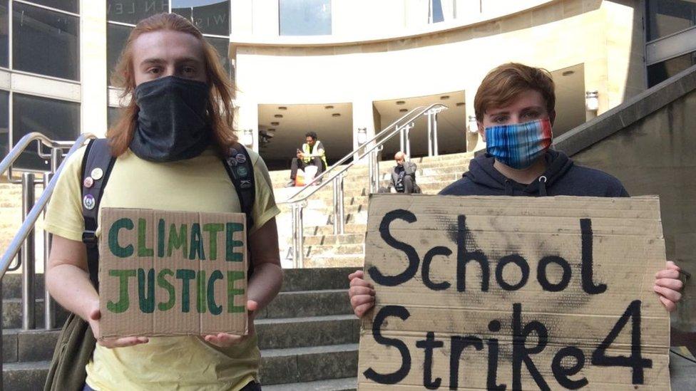
M610 174L573 164L551 147L556 94L551 73L506 63L483 78L474 98L478 132L486 154L469 164L469 172L439 194L478 196L629 197ZM655 275L653 291L667 311L682 294L680 269L668 261ZM353 312L361 318L374 306L374 286L363 271L348 276Z

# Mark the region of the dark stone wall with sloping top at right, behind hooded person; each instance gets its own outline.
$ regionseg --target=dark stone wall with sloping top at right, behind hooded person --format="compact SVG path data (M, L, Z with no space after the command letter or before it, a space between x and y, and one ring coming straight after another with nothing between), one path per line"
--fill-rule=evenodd
M696 331L696 67L656 85L556 141L632 196L658 194L667 259L692 277L675 328Z

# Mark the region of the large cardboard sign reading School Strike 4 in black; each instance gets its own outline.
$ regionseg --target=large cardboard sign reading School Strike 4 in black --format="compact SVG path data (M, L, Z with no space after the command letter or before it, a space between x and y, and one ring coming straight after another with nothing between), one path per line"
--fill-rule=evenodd
M657 197L373 195L359 389L669 390Z

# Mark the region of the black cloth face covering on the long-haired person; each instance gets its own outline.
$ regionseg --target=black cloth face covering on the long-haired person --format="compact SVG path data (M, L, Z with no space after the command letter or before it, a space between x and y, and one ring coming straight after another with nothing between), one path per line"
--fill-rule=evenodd
M201 154L210 145L208 84L167 76L135 88L140 108L131 150L150 162L175 162Z

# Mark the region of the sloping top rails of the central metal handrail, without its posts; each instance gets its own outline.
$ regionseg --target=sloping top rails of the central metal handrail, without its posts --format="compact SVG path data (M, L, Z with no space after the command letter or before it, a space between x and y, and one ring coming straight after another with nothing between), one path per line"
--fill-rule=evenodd
M374 137L372 137L371 139L369 139L369 140L367 140L366 142L364 142L364 143L363 143L363 146L358 147L356 150L353 150L352 152L349 152L347 155L345 155L344 157L342 157L341 160L339 160L338 162L335 162L331 167L327 168L327 170L325 170L325 171L322 172L321 174L317 175L317 177L314 177L314 180L312 180L312 182L309 182L308 184L305 184L305 187L302 187L302 189L300 189L300 191L296 192L295 194L292 194L292 196L290 196L290 198L286 199L285 201L278 202L278 204L294 204L294 203L296 203L296 202L305 201L307 198L311 197L312 194L318 192L320 189L322 189L322 187L324 187L324 186L326 186L328 183L332 182L332 180L335 179L336 177L338 177L340 174L343 174L344 172L346 172L346 170L348 170L350 167L352 167L352 166L355 164L355 160L353 160L352 162L350 162L348 165L345 165L345 166L342 168L342 170L340 170L339 172L337 172L336 174L334 174L334 175L333 175L332 177L330 177L329 180L327 180L326 182L322 182L322 183L319 184L318 186L312 187L312 191L309 192L309 194L305 195L305 197L302 197L302 198L299 198L299 199L295 199L295 197L297 197L298 194L304 192L306 189L309 189L309 188L310 188L309 185L314 184L314 183L317 182L319 179L322 179L323 177L327 176L327 174L328 174L329 172L331 172L332 170L334 170L334 169L336 169L337 167L339 167L340 165L342 165L344 162L346 162L347 160L349 160L351 157L354 157L355 155L358 155L360 152L362 152L361 150L362 150L363 148L365 148L364 145L369 145L369 143L373 142L374 140L377 140L377 138L381 137L381 136L384 135L387 131L389 131L389 129L390 129L391 127L394 127L394 130L392 130L391 133L389 133L389 135L385 136L382 140L380 140L379 142L375 143L375 144L374 144L372 147L370 147L368 150L364 150L364 152L362 152L362 156L369 154L369 152L372 152L373 150L376 150L376 149L379 148L379 147L382 147L382 145L384 145L385 142L391 140L391 137L394 137L394 135L396 135L396 133L399 132L399 131L401 130L401 129L399 128L399 126L398 126L399 123L403 123L404 125L406 125L406 124L408 124L408 123L410 123L410 122L413 122L414 120L416 120L417 118L419 118L421 115L424 115L425 113L428 113L431 109L434 109L434 108L444 108L444 109L446 109L447 106L446 106L446 105L443 105L443 104L441 104L441 103L433 103L432 105L429 105L429 106L427 106L426 108L423 108L423 106L419 106L419 107L417 107L417 108L414 108L413 110L409 111L409 113L406 113L403 117L401 117L401 118L399 118L398 120L392 122L391 125L385 127L382 131L380 131L379 133L377 133L377 135L374 135ZM418 114L413 115L413 113L416 113L416 112L417 112ZM411 116L412 116L413 118L410 118ZM409 120L404 120L404 118L409 118Z

